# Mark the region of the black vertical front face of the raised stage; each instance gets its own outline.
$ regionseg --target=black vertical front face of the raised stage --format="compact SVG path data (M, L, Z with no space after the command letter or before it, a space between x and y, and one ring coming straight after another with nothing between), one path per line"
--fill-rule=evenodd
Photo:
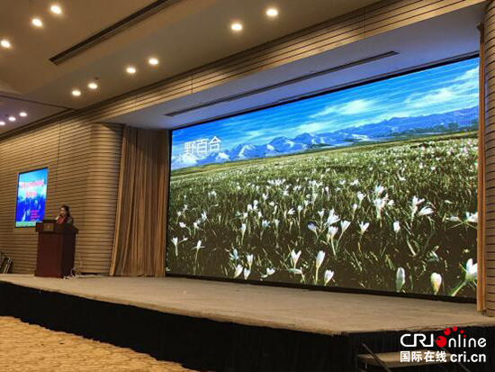
M329 336L249 326L160 313L6 282L0 282L0 315L134 349L184 367L211 371L354 371L363 343L374 352L398 351L401 335L406 333ZM469 349L487 354L487 363L471 366L472 370L495 370L495 327L469 327L464 332L468 337L487 340L486 348ZM426 334L437 337L441 331Z

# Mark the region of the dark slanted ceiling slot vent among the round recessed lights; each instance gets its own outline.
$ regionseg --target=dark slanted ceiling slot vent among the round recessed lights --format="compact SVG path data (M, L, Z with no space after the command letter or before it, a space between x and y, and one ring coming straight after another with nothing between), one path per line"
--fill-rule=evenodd
M56 56L51 57L49 60L56 65L66 62L68 59L73 59L78 54L83 51L93 48L95 45L102 41L108 40L115 36L117 33L129 29L136 23L142 22L149 18L153 14L164 10L166 7L175 4L179 0L156 0L148 6L139 9L139 11L128 15L124 19L117 23L113 23L109 27L103 29L100 32L96 32L94 35L85 39L84 41L78 42L76 45L58 53Z

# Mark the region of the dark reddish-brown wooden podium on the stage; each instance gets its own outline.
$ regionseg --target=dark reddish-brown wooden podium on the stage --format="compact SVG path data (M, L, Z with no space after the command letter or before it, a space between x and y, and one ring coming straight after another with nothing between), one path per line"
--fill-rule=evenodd
M55 221L36 223L38 257L35 277L66 277L74 268L76 227Z

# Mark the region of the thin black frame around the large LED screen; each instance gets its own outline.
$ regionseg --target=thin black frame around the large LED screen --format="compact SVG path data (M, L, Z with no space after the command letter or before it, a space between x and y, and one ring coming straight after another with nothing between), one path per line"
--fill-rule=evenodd
M473 53L469 54L464 54L461 56L456 56L450 59L443 59L440 61L434 61L425 65L421 65L419 67L413 67L413 68L406 68L400 71L395 71L391 72L389 74L384 74L383 76L379 77L371 77L370 79L366 79L365 81L360 81L356 83L349 83L344 86L338 86L337 88L329 88L325 89L322 91L319 91L317 93L310 93L308 95L302 95L300 97L296 97L294 99L289 99L284 102L279 102L279 103L274 103L274 104L266 104L261 107L255 107L255 108L250 108L243 110L241 112L237 113L229 113L225 115L219 115L214 118L209 118L206 120L202 120L199 122L191 122L187 123L184 125L177 126L173 129L168 130L168 168L166 170L166 177L167 177L167 195L166 195L166 219L165 219L165 234L167 235L168 232L168 216L169 216L169 205L170 205L170 182L171 182L171 174L172 174L172 137L173 137L173 132L178 131L184 128L189 128L193 127L196 125L202 125L202 124L207 124L210 122L216 122L222 119L229 119L231 117L236 117L240 116L246 113L256 113L258 111L262 111L268 108L273 108L277 106L283 106L285 104L293 104L294 102L299 102L302 100L306 99L311 99L313 97L317 97L320 95L328 95L330 93L335 93L339 92L342 90L347 90L351 89L357 86L366 86L369 84L373 84L379 81L387 80L393 77L401 77L404 75L410 75L415 72L420 72L424 70L428 70L431 68L439 68L442 66L447 66L451 65L457 62L462 62L464 60L468 59L476 59L480 58L480 53L479 51L475 51ZM478 185L476 185L476 188L478 190ZM166 268L166 258L167 258L167 253L169 251L169 244L168 244L168 239L165 239L165 260L164 260L164 265ZM167 272L165 270L165 275L166 277L183 277L187 279L196 279L196 280L210 280L210 281L217 281L217 282L224 282L224 283L234 283L234 284L247 284L247 285L255 285L255 286L278 286L278 287L285 287L285 288L296 288L296 289L306 289L306 290L315 290L315 291L324 291L324 292L338 292L338 293L349 293L349 294L361 294L361 295L385 295L385 296L392 296L392 297L404 297L404 298L418 298L418 299L425 299L425 300L434 300L434 301L446 301L446 302L452 302L452 303L463 303L463 304L476 304L476 297L470 298L470 297L453 297L449 295L428 295L428 294L416 294L416 293L402 293L402 292L392 292L392 291L384 291L384 290L379 290L379 289L367 289L367 288L352 288L352 287L346 287L346 286L315 286L311 284L300 284L300 283L285 283L285 282L273 282L273 281L261 281L261 280L243 280L243 279L235 279L235 278L230 278L230 277L208 277L208 276L197 276L197 275L190 275L190 274L174 274Z

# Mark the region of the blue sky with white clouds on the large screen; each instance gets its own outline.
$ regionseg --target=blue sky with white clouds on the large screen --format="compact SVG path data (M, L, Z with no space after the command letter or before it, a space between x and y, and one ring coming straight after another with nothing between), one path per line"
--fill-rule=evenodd
M478 105L478 59L467 59L401 77L244 113L172 132L172 155L184 143L214 136L221 150L241 143L266 144L275 137L327 133L379 123L392 117L446 113Z

